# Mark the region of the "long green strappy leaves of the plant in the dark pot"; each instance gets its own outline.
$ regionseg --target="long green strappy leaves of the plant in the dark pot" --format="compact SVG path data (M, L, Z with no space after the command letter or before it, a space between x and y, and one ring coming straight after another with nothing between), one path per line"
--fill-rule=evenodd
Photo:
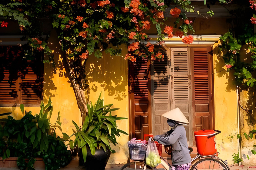
M73 124L76 127L76 131L72 134L76 136L75 141L70 140L70 148L78 146L82 149L84 162L86 161L87 148L91 150L92 155L95 154L96 148L103 148L105 151L107 148L112 153L115 153L111 149L110 143L114 145L118 144L116 136L120 137L120 133L128 135L125 131L117 128L116 121L127 118L120 118L112 116L111 112L118 109L111 109L113 104L103 106L103 99L99 96L97 102L93 105L87 105L88 116L85 118L85 122L80 128L74 121ZM72 136L71 135L71 136Z

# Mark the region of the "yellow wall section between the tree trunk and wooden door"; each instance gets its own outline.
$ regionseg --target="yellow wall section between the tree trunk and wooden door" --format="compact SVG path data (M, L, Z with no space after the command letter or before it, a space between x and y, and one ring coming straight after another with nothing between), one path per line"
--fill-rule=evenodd
M127 47L122 46L122 53L127 53ZM112 115L118 117L129 117L129 97L128 97L128 63L120 56L110 56L103 53L103 58L96 59L90 56L86 61L86 75L88 79L89 100L93 103L101 97L104 98L104 104L113 104L113 108L120 108L114 111ZM129 132L129 121L118 120L118 128ZM128 135L122 134L117 137L119 145L111 146L116 153L111 154L108 163L125 163L128 160Z

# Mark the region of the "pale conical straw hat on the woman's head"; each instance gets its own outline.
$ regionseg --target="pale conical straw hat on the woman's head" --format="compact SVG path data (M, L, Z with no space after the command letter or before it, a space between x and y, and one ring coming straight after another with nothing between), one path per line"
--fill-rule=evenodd
M180 123L186 123L186 124L189 123L187 118L183 115L183 113L180 111L179 108L176 108L176 109L173 109L169 112L166 112L162 116L167 118L167 119L171 119L173 121L177 121L177 122L180 122Z

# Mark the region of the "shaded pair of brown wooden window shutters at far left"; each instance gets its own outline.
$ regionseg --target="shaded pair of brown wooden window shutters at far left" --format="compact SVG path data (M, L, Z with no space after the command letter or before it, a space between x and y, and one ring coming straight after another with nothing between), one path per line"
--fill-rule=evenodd
M43 89L43 64L27 61L19 46L0 46L0 104L40 104Z

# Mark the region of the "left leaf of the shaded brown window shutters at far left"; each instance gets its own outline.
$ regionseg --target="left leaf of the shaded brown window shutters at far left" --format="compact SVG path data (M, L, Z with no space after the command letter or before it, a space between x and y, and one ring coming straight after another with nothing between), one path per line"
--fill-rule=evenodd
M16 104L18 103L18 77L12 65L17 58L16 48L0 46L0 103ZM15 76L12 74L15 72ZM10 74L11 73L11 74Z

